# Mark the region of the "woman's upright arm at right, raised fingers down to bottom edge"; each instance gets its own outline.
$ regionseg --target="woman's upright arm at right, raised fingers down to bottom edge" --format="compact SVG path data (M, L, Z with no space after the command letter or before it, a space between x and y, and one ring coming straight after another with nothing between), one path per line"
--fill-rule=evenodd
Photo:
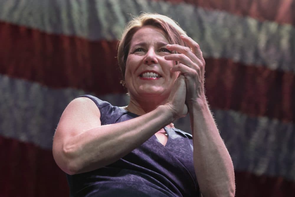
M190 46L167 45L181 54L165 56L178 61L172 71L185 76L188 105L194 142L194 167L203 196L235 196L235 176L230 155L225 147L204 94L205 61L199 45L187 36Z

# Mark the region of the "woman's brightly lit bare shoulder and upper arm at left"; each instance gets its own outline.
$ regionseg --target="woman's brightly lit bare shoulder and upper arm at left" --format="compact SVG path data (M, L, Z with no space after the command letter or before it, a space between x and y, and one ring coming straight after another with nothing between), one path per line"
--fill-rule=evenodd
M63 111L55 136L75 136L97 126L101 126L99 108L91 99L79 97Z

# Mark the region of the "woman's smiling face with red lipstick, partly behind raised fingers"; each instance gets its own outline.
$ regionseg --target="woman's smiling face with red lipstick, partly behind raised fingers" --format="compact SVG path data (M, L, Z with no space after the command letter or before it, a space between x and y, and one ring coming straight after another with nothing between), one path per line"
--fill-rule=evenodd
M165 33L144 26L133 35L126 61L125 83L131 97L167 97L178 77L172 72L174 62L165 60L171 54Z

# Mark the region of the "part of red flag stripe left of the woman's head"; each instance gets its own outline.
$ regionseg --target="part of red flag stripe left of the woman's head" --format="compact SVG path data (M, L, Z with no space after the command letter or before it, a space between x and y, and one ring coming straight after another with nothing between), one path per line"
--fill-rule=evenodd
M117 41L90 42L0 22L0 42L1 74L54 88L124 91L115 58Z

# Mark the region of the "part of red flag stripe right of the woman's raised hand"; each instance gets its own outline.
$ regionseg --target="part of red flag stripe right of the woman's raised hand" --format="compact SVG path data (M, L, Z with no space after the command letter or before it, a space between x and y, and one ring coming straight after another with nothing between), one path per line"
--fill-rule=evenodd
M295 120L295 75L229 59L205 59L206 95L213 108Z

